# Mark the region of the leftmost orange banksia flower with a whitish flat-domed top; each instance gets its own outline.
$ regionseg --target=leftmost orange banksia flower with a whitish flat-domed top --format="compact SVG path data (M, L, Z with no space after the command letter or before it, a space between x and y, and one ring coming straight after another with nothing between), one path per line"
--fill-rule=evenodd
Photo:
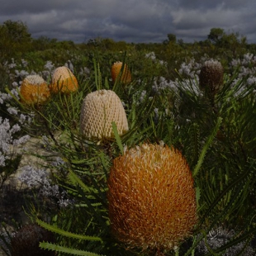
M37 74L28 75L21 83L21 102L40 105L50 97L50 89L44 78Z

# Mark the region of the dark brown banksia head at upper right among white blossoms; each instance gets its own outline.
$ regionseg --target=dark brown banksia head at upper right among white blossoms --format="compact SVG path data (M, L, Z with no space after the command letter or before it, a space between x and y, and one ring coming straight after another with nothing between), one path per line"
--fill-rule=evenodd
M219 61L208 60L201 67L199 87L215 95L223 85L223 68Z

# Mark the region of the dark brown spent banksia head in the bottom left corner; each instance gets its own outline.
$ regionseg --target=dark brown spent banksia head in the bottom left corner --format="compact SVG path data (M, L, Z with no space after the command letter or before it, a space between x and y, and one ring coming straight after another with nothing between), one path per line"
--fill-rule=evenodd
M54 235L37 224L24 225L11 240L12 256L54 256L55 252L40 249L40 242L54 243Z

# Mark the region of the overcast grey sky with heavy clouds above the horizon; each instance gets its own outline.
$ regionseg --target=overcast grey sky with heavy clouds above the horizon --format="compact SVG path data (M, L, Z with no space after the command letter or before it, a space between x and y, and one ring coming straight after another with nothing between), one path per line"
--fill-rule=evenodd
M23 21L33 38L96 37L162 42L206 40L212 27L256 43L256 0L0 0L0 23Z

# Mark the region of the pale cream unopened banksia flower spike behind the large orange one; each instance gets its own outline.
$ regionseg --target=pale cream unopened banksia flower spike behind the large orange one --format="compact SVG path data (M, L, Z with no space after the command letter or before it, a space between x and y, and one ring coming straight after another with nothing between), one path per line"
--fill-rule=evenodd
M89 93L83 100L80 130L86 137L110 139L114 137L111 122L116 123L119 135L126 133L128 122L120 98L111 90Z

